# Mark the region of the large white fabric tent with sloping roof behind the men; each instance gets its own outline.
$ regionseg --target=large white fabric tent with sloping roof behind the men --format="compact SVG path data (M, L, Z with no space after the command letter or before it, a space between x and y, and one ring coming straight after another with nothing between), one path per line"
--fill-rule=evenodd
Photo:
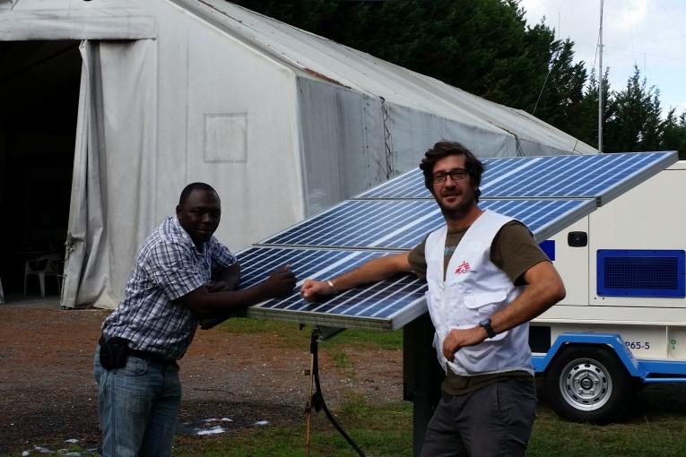
M114 307L181 188L219 192L238 250L416 167L593 153L523 111L222 0L0 0L0 41L80 40L62 305ZM0 148L1 151L1 148Z

